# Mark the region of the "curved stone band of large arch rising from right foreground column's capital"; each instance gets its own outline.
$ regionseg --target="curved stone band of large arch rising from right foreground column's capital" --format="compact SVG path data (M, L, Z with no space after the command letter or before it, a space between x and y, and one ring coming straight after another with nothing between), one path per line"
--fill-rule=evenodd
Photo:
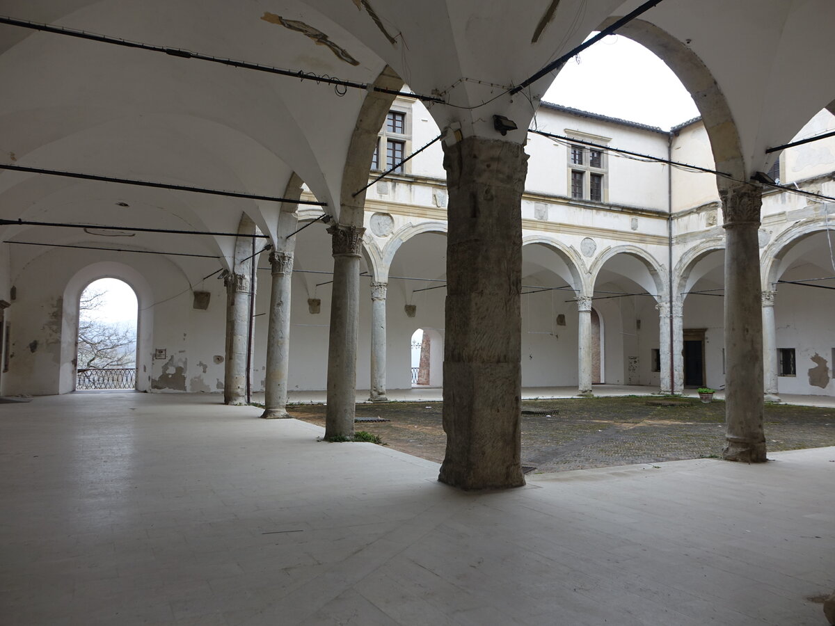
M616 19L618 18L606 19L600 24L600 28L606 28ZM719 84L701 58L678 38L645 20L635 19L626 23L618 29L618 34L640 43L676 74L681 84L691 93L693 102L699 109L711 142L716 169L730 174L737 180L746 180L746 163L731 108ZM731 184L731 181L721 177L716 181L720 189L726 184Z

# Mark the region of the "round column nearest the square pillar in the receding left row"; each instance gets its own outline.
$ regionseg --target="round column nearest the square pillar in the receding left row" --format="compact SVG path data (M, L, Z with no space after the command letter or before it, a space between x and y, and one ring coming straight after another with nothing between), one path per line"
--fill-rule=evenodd
M333 291L327 348L325 438L353 437L357 408L357 335L362 226L332 225Z

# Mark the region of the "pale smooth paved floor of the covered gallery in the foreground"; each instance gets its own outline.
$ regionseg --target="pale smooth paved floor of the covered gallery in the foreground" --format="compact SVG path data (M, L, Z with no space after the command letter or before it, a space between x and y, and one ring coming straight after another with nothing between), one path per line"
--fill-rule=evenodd
M826 623L835 448L473 494L219 400L0 405L0 623Z

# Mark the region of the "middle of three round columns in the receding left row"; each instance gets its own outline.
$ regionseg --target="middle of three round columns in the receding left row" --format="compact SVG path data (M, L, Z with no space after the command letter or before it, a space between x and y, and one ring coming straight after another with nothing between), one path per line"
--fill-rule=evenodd
M290 292L293 255L271 252L272 291L266 331L265 409L261 417L290 417L287 413L287 371L290 364Z

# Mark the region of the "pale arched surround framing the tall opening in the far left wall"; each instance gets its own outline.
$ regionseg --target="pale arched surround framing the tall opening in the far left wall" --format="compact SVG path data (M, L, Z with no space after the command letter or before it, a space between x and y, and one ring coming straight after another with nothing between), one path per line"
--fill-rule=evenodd
M78 341L78 300L87 285L100 278L116 278L127 283L136 294L136 391L149 391L151 346L154 337L154 293L139 271L119 261L99 261L78 270L63 290L61 318L61 364L58 393L75 390L76 343Z

